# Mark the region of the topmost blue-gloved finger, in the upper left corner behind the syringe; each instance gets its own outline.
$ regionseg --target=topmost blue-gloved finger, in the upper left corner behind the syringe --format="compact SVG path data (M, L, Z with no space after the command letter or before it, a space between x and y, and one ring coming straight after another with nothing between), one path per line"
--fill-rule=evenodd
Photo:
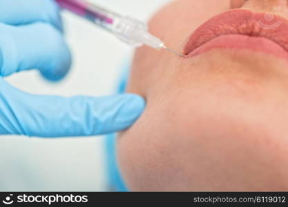
M54 0L1 0L0 22L19 26L46 22L62 30L59 7Z

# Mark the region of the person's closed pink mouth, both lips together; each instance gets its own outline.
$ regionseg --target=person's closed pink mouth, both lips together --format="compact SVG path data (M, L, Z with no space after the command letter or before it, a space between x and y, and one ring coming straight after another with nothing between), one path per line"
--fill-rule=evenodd
M288 59L288 21L273 14L230 10L195 30L184 55L190 58L215 48L256 50Z

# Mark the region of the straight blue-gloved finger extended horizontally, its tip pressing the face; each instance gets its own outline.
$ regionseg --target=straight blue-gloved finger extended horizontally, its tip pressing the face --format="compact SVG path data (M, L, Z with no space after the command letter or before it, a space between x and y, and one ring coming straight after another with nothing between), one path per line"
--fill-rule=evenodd
M70 98L30 95L0 77L0 135L102 135L128 128L144 108L144 99L137 95Z

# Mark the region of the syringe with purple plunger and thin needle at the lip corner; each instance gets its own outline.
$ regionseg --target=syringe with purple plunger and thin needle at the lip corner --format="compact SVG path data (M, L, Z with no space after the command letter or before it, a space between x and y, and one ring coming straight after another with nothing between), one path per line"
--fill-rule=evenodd
M115 34L118 39L128 43L130 46L139 47L150 46L157 50L162 48L184 57L184 55L167 48L163 41L148 32L148 27L142 21L132 17L124 17L115 12L108 11L99 6L95 6L85 0L56 0L61 8L65 8L97 26Z

